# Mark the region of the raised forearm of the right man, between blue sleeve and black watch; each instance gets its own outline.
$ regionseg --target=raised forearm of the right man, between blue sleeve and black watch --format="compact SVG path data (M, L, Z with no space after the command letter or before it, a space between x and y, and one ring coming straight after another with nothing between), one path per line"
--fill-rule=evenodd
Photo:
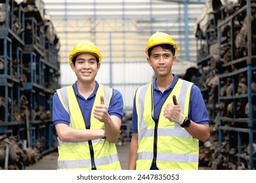
M185 127L186 131L190 133L194 138L206 142L210 137L209 125L207 124L196 124L190 120L190 126Z

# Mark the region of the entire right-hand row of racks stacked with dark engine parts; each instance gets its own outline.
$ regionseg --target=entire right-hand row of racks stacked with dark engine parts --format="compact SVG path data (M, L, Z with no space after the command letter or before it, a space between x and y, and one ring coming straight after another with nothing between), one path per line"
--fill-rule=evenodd
M256 169L256 1L211 0L195 27L211 169Z

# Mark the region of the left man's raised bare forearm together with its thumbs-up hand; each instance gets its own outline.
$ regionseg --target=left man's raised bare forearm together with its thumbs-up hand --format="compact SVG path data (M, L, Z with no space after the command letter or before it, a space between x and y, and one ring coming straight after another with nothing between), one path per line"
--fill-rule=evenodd
M100 96L100 105L96 105L93 112L96 119L105 124L105 136L110 142L116 142L120 135L121 119L117 116L110 116L104 105L104 97Z

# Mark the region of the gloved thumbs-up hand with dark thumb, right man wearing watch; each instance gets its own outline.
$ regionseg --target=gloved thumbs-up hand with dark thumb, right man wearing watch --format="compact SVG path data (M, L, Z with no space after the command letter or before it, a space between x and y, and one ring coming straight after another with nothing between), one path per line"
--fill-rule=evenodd
M184 122L186 116L181 113L181 107L179 106L175 95L173 95L173 104L168 103L165 106L165 109L163 110L163 116L169 121L175 122L179 125Z

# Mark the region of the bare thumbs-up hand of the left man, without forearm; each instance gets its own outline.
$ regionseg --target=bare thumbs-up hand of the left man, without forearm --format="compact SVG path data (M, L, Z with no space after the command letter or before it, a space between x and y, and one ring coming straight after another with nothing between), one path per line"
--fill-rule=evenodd
M102 123L109 122L111 120L103 96L100 96L100 105L96 105L93 114L95 118Z

